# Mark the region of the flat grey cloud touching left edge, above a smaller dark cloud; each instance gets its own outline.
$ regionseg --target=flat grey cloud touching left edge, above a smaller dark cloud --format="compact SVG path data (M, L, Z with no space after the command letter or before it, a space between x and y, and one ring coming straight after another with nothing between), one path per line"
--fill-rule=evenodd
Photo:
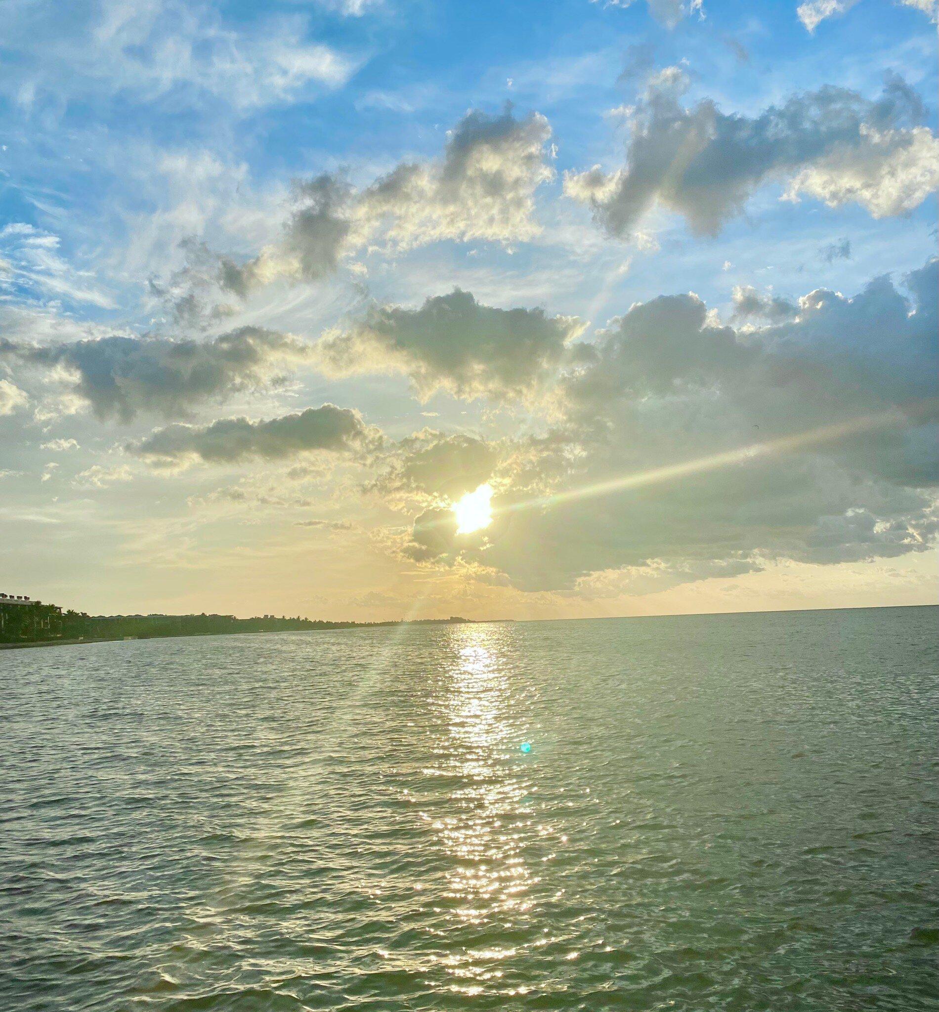
M281 363L308 354L296 338L258 327L205 342L110 336L39 345L0 338L0 360L56 370L97 418L121 422L141 412L186 418L201 404L276 383Z

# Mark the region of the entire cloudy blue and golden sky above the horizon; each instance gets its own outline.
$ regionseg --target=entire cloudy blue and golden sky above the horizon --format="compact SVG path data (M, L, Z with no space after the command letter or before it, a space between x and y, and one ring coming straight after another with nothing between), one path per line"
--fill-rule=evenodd
M3 18L0 590L934 603L936 0Z

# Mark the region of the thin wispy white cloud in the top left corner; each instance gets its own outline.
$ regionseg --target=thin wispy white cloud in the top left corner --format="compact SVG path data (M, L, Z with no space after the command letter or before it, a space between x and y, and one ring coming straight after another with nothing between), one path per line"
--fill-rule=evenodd
M310 87L334 88L355 62L307 40L301 16L236 25L208 4L182 0L77 0L14 4L4 43L18 58L15 97L31 106L52 99L100 96L137 101L206 100L249 111Z

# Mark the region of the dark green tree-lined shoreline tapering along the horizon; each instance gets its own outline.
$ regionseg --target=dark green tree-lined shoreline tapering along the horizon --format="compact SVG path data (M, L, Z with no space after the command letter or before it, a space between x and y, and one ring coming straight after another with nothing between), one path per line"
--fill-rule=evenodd
M117 640L155 640L168 637L232 636L239 632L296 632L320 629L376 628L391 625L449 625L472 622L459 615L381 622L328 621L300 615L89 615L63 610L28 598L0 597L0 650L18 647L56 647Z

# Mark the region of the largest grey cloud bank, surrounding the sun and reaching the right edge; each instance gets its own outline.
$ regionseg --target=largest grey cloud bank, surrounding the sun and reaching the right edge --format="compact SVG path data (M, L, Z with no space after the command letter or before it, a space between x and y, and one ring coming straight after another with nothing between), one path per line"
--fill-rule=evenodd
M442 462L418 471L421 443L400 448L376 489L417 519L393 550L482 565L525 591L594 596L780 560L924 551L939 531L936 261L904 287L878 277L853 297L816 289L778 313L751 289L738 305L756 310L740 327L693 294L633 306L566 368L543 434L481 440L462 470L446 444ZM837 438L824 438L832 425ZM719 456L805 433L820 434ZM439 438L425 436L434 448ZM669 477L687 461L698 462ZM452 483L434 487L438 476ZM461 537L448 505L480 480L496 489L495 518Z

